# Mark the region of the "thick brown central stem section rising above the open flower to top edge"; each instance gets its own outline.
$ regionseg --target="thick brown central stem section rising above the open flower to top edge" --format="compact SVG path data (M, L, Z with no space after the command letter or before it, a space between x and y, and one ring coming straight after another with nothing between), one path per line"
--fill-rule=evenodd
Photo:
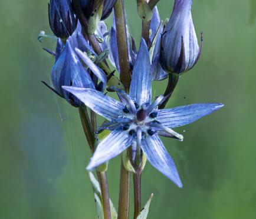
M117 47L120 65L120 80L126 89L130 87L130 66L128 58L128 45L126 34L126 19L124 15L123 0L117 0L114 4L114 16L116 21Z

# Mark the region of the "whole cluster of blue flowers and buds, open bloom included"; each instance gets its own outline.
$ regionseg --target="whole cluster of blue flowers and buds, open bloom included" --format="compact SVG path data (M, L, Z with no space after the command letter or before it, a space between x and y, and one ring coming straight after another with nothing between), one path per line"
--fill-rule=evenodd
M117 43L119 36L115 15L109 31L103 21L95 22L96 31L93 34L88 34L86 26L90 25L95 13L101 20L106 19L116 2L50 1L50 26L58 40L55 52L51 52L55 56L51 70L53 87L47 86L74 107L85 105L107 120L93 130L95 138L103 130L109 130L110 134L94 148L87 170L93 170L123 151L129 151L129 160L134 168L142 167L141 157L145 155L153 167L182 187L175 164L160 137L182 141L183 136L172 128L196 121L223 106L219 103L191 104L164 109L161 104L168 100L171 93L152 99L152 81L172 75L179 77L193 68L201 55L192 22L192 0L175 0L172 15L164 26L155 6L152 16L148 16L151 18L148 40L140 40L138 51L129 26L124 26L127 62L132 75L130 86L126 88L123 81L114 75L114 71L124 74L120 70L122 45ZM106 59L116 69L111 69ZM105 89L116 92L120 101L104 94Z

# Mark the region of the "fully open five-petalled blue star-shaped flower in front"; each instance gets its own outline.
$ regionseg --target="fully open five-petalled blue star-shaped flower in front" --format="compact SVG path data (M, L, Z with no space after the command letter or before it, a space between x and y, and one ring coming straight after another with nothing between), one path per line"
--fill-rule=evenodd
M171 128L196 121L223 105L219 103L192 104L171 109L158 109L157 106L164 97L160 95L151 103L152 76L147 45L142 39L133 68L129 95L116 89L123 96L121 102L95 89L63 88L75 95L94 112L110 121L100 127L112 130L112 132L96 148L87 166L88 170L116 157L135 142L153 167L165 174L176 185L182 187L175 164L159 135L182 141L183 136Z

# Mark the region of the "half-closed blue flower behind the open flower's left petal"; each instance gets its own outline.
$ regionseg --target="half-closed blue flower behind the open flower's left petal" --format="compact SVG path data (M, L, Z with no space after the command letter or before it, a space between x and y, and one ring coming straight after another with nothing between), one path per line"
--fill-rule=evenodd
M78 38L81 39L81 38ZM74 86L80 88L90 88L96 89L97 84L93 82L90 74L88 74L86 68L80 61L80 58L88 66L88 68L99 78L102 86L100 91L103 91L106 87L106 75L104 72L97 67L90 58L87 57L80 49L73 49L72 45L76 45L76 38L70 36L63 49L63 44L61 39L58 39L57 48L55 52L55 64L51 70L51 79L54 88L48 86L60 97L65 98L74 107L79 107L81 102L79 99L70 94L70 92L65 91L63 86ZM86 47L86 44L80 44ZM90 49L87 48L87 49ZM80 58L78 58L76 52ZM97 81L96 81L97 82ZM45 84L45 83L44 83Z

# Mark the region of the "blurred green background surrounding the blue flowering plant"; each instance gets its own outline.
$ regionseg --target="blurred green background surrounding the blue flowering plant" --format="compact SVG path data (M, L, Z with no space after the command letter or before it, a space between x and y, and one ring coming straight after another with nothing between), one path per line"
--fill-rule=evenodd
M124 3L138 45L136 1ZM162 19L172 5L160 0ZM256 1L194 0L192 15L198 38L204 31L202 57L182 76L168 107L196 102L225 107L177 128L183 142L163 140L183 188L147 164L142 204L154 193L149 218L255 218ZM0 18L0 218L96 218L86 172L91 155L78 110L40 82L50 82L53 64L42 47L55 44L37 41L41 29L51 34L47 0L1 1ZM165 84L155 83L157 92ZM107 172L116 206L119 163L120 157L114 158Z

